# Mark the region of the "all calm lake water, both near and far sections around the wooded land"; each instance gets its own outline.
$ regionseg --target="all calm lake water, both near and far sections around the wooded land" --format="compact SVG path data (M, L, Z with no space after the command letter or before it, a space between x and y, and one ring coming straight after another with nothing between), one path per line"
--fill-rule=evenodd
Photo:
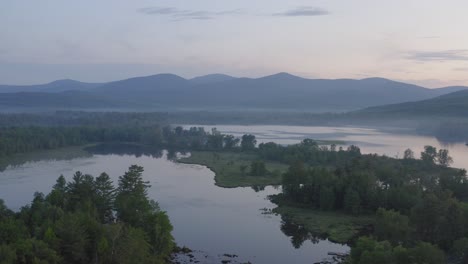
M394 135L366 128L291 127L291 126L217 126L225 133L255 134L259 142L296 143L304 138L343 140L356 144L365 153L400 155L406 148L415 152L424 145L450 150L454 166L468 168L468 147L464 144L442 145L434 138ZM209 129L209 127L207 127ZM152 187L149 196L168 212L174 225L174 237L180 246L201 250L211 256L236 254L252 263L313 263L327 257L329 251L346 252L347 246L314 239L295 248L291 230L279 216L263 214L261 209L274 205L266 197L278 192L273 187L255 192L251 188L224 189L214 185L214 173L204 166L174 163L165 153L79 152L76 156L39 158L8 166L0 173L0 198L12 209L28 204L35 191L48 193L59 175L71 179L75 171L97 176L107 172L117 183L132 164L145 168L144 178ZM41 159L40 157L44 157ZM18 165L19 164L19 165ZM219 259L214 258L213 262Z

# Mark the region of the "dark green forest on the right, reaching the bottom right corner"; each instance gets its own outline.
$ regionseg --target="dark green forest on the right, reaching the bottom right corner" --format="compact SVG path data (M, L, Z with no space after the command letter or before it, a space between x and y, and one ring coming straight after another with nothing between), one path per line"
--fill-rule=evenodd
M362 155L320 147L311 140L261 144L265 159L292 163L283 175L280 205L375 215L366 237L351 251L352 263L454 263L468 261L468 179L449 168L447 150L426 146L421 159Z

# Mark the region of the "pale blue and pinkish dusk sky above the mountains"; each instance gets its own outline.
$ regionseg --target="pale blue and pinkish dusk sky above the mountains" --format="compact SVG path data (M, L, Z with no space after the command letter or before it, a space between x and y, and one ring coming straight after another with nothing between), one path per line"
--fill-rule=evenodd
M466 0L1 0L0 83L158 73L468 86Z

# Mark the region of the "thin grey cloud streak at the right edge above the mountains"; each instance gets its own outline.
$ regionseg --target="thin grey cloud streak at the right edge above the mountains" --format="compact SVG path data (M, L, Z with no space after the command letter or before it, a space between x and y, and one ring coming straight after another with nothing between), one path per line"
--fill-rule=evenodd
M468 50L413 51L406 59L414 61L465 61L468 60Z

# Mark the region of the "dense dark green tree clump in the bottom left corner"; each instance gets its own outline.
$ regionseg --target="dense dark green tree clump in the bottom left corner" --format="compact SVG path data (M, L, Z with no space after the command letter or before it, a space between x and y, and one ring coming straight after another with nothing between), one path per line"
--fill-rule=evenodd
M131 166L117 187L106 173L60 176L19 212L0 200L0 263L164 263L172 225L142 172Z

